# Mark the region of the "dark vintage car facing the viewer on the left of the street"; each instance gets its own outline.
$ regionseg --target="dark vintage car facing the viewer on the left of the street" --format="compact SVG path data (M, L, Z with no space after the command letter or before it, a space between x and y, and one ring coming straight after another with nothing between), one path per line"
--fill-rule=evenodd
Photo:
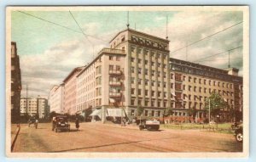
M70 124L68 123L67 116L57 115L55 117L55 132L70 131Z

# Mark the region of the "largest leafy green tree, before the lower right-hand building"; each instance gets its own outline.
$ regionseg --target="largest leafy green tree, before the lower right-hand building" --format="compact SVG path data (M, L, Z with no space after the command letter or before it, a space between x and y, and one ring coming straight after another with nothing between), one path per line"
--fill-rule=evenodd
M209 98L206 98L205 110L207 111L209 111L209 102L210 102L211 116L213 116L213 120L215 116L218 115L222 109L227 108L227 105L228 105L228 103L224 101L224 98L222 98L216 92L212 92L211 96Z

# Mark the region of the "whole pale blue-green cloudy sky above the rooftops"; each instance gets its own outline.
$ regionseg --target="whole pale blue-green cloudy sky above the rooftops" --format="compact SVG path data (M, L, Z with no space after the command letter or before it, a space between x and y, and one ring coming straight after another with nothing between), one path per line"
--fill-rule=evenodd
M90 63L102 47L109 47L108 42L127 24L126 11L22 12L12 12L11 40L17 43L20 56L23 96L26 85L29 96L48 95L51 87L61 84L73 68ZM170 57L226 69L227 51L238 47L230 51L230 66L239 69L242 76L242 12L130 11L129 24L131 29L136 26L137 31L165 38L166 16ZM84 36L79 26L89 36ZM223 32L211 36L218 31ZM193 42L197 43L185 47Z

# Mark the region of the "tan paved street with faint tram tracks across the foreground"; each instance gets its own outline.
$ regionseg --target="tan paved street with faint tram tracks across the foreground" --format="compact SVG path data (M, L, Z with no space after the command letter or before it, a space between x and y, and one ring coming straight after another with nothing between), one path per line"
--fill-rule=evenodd
M80 130L51 131L21 125L14 152L241 152L230 134L198 130L139 131L136 126L81 123Z

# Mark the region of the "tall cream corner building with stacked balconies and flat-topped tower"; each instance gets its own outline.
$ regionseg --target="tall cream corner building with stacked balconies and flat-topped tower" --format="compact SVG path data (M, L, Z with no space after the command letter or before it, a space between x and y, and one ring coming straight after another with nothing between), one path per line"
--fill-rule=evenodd
M171 105L169 41L127 29L119 32L96 59L82 70L77 80L77 109L125 109L136 115L161 116Z

